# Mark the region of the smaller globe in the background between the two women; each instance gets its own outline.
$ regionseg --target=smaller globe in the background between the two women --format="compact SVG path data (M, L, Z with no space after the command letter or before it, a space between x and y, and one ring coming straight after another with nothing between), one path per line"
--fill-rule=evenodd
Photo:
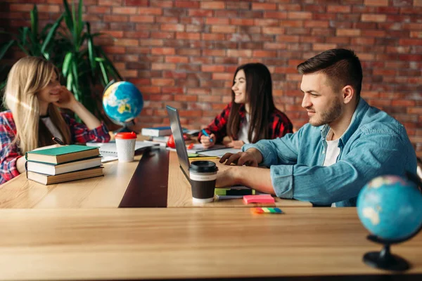
M118 132L130 132L128 126L143 108L142 93L128 81L110 81L103 92L103 108L115 124L123 126Z

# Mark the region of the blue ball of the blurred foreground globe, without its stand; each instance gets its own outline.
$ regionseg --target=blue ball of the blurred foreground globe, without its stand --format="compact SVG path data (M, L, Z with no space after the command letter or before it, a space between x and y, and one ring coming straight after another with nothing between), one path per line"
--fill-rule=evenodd
M370 233L401 240L422 226L422 194L399 176L379 176L359 192L357 214Z

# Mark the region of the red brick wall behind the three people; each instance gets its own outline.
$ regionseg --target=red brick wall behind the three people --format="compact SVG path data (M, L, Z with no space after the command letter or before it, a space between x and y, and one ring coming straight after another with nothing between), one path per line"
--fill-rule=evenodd
M71 1L71 0L70 0ZM2 0L2 27L27 25L32 4L41 22L62 0ZM30 4L28 4L30 3ZM362 96L402 122L422 156L422 0L171 1L85 0L85 19L123 77L146 100L137 126L168 124L165 105L188 128L208 124L229 103L236 67L266 64L274 99L298 129L295 67L329 48L352 48L364 67Z

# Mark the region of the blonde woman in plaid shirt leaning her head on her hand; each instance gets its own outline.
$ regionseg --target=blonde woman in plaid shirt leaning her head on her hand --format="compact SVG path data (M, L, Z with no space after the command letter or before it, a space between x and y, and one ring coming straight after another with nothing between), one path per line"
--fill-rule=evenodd
M60 86L58 70L48 61L25 57L8 74L0 112L0 184L25 171L25 152L52 145L56 137L65 144L110 141L108 129L75 97ZM79 124L58 107L75 112Z

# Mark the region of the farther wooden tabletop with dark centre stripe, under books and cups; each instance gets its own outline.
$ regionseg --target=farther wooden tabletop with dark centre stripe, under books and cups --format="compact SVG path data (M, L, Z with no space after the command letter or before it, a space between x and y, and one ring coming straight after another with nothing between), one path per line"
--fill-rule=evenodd
M103 177L42 185L22 174L0 185L0 208L245 207L242 200L192 204L176 152L163 150L147 150L134 162L105 163ZM312 207L309 202L280 199L275 205Z

